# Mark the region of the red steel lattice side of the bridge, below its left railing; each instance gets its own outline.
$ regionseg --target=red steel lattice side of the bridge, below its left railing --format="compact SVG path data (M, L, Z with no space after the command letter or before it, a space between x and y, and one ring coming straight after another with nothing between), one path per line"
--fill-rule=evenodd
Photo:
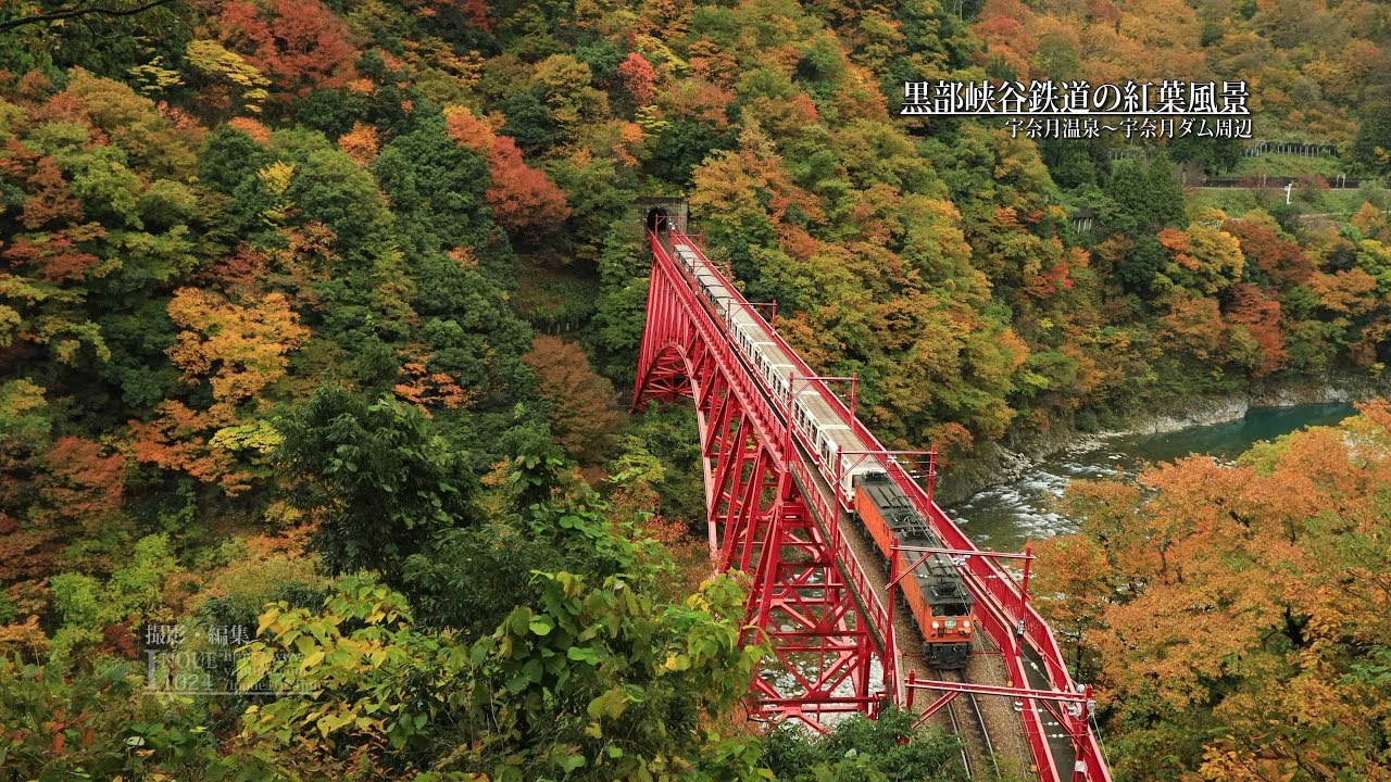
M691 399L700 426L711 554L719 572L750 576L748 639L773 660L753 682L751 712L822 729L830 714L874 714L893 692L872 689L885 653L835 555L836 519L814 518L793 474L786 426L704 309L654 244L647 327L633 408ZM864 597L864 596L861 596ZM892 653L890 653L892 654Z

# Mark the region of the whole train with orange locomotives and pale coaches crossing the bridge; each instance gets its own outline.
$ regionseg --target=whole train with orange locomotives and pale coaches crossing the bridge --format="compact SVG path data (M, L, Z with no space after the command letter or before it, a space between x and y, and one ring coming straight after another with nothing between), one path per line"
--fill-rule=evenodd
M842 509L864 527L885 562L897 558L903 572L921 554L893 551L900 545L943 548L926 520L889 476L890 458L875 455L855 429L846 423L830 401L814 384L794 388L797 360L771 327L733 291L684 232L665 214L648 218L658 244L680 266L704 301L707 310L725 324L734 353L759 377L775 401L775 409L790 415L807 456ZM790 410L790 412L789 412ZM807 487L811 488L811 487ZM922 633L922 655L932 668L964 668L971 657L975 632L975 598L961 573L944 554L926 557L912 577L899 582L899 598L907 605Z

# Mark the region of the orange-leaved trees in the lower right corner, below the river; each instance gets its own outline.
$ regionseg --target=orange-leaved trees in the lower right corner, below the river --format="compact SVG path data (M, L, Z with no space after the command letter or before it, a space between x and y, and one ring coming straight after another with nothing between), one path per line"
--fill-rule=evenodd
M1384 689L1358 673L1373 665L1365 650L1391 644L1391 562L1372 543L1387 534L1391 406L1259 444L1235 465L1159 465L1139 484L1075 483L1066 505L1081 533L1042 545L1036 570L1045 612L1078 633L1082 675L1120 719L1160 715L1132 729L1117 771L1391 771L1365 740ZM1146 753L1168 742L1164 760Z

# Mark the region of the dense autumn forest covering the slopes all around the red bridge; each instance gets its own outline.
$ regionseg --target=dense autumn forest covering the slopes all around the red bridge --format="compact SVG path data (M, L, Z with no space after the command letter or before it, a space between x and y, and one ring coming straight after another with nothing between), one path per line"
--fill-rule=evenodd
M1242 79L1257 139L1330 152L899 115L988 78ZM1185 185L1267 163L1303 207ZM6 4L0 782L956 779L910 715L744 719L696 420L627 415L634 200L949 483L1381 383L1388 177L1372 0ZM1066 498L1045 608L1117 779L1391 779L1388 459L1369 402Z

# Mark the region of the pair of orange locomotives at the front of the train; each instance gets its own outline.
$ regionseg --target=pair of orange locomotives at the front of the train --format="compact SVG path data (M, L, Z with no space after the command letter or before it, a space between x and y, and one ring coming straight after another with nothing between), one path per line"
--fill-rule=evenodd
M885 473L865 473L855 479L855 513L885 559L890 555L899 558L899 573L921 555L890 552L894 538L900 545L942 548L942 541ZM975 598L967 591L951 559L944 554L928 557L911 576L899 582L899 589L922 632L922 654L928 665L964 668L975 632L971 621Z

